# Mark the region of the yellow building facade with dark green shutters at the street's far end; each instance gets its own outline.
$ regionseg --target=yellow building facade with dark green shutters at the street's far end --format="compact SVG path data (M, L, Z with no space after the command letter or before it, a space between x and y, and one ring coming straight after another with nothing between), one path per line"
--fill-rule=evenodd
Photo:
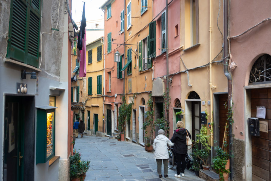
M86 45L86 130L103 132L103 37Z

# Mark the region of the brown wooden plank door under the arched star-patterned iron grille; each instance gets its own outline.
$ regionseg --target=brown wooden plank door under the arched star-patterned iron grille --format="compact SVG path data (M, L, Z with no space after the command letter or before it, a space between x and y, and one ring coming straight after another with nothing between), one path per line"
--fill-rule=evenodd
M256 117L256 106L266 107L268 132L252 136L252 181L271 181L271 89L251 90L251 117Z

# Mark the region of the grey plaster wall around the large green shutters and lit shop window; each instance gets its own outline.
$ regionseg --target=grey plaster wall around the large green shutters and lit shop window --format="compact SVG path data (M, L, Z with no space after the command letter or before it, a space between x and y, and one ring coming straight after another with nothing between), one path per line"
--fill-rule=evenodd
M58 161L48 166L48 162L45 164L35 164L34 176L35 180L58 180L58 172L61 172L62 178L68 179L67 170L67 153L68 153L68 47L70 42L68 41L67 24L68 14L64 14L64 1L60 1L60 11L58 15L59 1L46 1L43 2L43 17L41 19L41 30L40 32L52 32L51 27L56 26L58 21L59 31L55 31L53 34L42 34L42 61L40 59L40 70L36 71L37 79L30 79L30 75L26 76L26 79L20 79L20 71L26 70L27 72L33 71L26 67L22 67L17 64L5 62L5 56L7 52L7 40L8 40L8 28L9 28L9 13L10 13L10 1L3 1L0 3L0 29L2 31L0 35L1 51L0 51L0 75L5 79L0 82L0 112L2 113L2 120L4 120L4 107L5 107L5 96L4 94L16 94L16 82L27 84L27 94L35 95L35 105L33 106L44 106L49 105L49 95L55 94L56 92L49 89L49 87L60 87L64 91L59 91L59 96L56 96L56 135L55 135L55 155L60 156L60 162L64 161L65 168L59 167ZM53 41L52 41L53 40ZM41 41L41 40L40 40ZM40 64L39 64L40 65ZM39 67L38 67L39 68ZM38 80L38 92L36 92L36 81ZM36 109L35 122L36 122ZM0 125L0 130L4 132L4 122ZM36 130L36 124L35 124ZM36 133L35 133L36 138ZM3 170L3 135L0 135L0 170ZM36 139L35 139L36 140ZM27 149L27 148L25 148ZM36 152L36 143L35 143ZM36 153L34 154L36 160ZM62 164L63 165L63 164ZM1 172L1 178L3 173Z

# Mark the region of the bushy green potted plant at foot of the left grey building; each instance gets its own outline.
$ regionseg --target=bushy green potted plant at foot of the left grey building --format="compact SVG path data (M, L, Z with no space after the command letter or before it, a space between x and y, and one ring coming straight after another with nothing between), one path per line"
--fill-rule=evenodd
M70 156L70 179L72 181L83 181L89 170L90 161L81 160L81 154Z

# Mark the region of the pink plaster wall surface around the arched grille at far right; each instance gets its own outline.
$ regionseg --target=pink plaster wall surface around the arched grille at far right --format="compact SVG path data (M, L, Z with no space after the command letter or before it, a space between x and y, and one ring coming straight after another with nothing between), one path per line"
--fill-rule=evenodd
M237 7L242 7L238 9ZM235 36L243 33L255 24L270 17L270 11L268 7L271 6L271 2L266 1L238 1L231 4L230 7L230 22L229 22L229 36ZM261 11L261 13L257 13ZM234 120L242 120L235 122L233 127L233 134L236 138L245 139L245 134L248 131L245 130L245 113L244 113L244 86L248 85L248 78L252 68L252 65L263 54L271 55L270 46L271 42L266 41L271 37L270 33L271 22L267 21L258 25L248 33L231 39L231 53L232 61L236 62L237 68L232 72L233 77L233 103L234 103ZM251 46L253 45L253 46ZM240 135L240 132L244 132L244 135Z

